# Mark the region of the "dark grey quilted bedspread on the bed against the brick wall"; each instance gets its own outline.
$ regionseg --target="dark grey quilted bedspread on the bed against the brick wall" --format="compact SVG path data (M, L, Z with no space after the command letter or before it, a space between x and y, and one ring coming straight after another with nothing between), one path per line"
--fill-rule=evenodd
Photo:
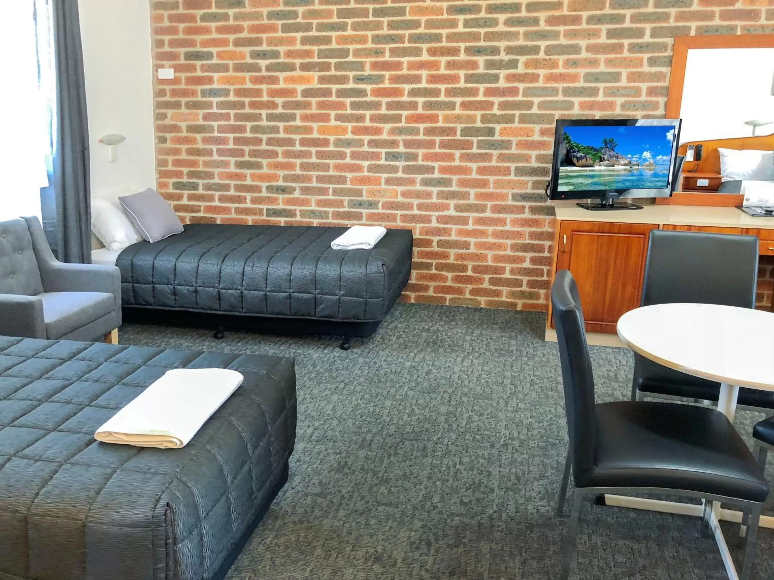
M345 227L195 223L126 248L124 305L368 322L406 286L413 237L388 230L372 250L332 250Z

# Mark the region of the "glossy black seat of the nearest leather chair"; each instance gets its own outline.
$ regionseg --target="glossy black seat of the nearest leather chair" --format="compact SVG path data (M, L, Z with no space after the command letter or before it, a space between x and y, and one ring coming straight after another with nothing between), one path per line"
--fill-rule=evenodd
M769 486L720 411L687 404L596 405L594 469L578 487L658 487L762 502Z

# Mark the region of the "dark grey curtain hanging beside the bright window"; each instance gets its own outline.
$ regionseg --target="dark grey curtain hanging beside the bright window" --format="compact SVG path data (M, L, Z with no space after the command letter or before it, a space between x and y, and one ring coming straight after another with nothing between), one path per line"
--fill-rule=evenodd
M48 0L46 5L52 20L57 91L50 186L40 191L43 229L60 261L90 263L89 136L78 3Z

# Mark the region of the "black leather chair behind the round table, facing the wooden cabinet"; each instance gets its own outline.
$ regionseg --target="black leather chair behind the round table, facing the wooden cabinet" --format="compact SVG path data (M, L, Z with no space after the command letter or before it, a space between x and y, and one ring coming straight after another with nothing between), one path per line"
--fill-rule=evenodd
M755 308L758 238L655 230L650 234L640 305L703 302ZM717 403L721 385L635 353L632 401L656 397ZM774 393L739 389L738 408L774 411Z

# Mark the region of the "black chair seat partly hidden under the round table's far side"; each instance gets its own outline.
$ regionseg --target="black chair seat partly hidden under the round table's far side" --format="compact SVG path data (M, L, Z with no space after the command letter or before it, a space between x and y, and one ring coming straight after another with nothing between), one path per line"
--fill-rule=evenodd
M635 384L642 393L704 401L717 401L721 392L721 384L714 380L681 373L639 355L635 360ZM774 393L741 387L737 404L774 409Z

